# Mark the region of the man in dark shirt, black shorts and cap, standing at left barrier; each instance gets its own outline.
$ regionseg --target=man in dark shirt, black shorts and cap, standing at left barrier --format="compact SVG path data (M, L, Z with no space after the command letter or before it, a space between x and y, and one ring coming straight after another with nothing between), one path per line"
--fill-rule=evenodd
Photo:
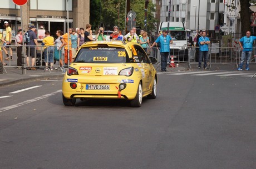
M37 43L37 36L36 36L36 27L34 25L31 25L28 30L28 35L30 37L30 42L26 44L26 54L27 54L27 69L28 70L37 70L35 68L35 56L36 56L36 50L38 50L38 43ZM31 66L29 66L29 57L31 57Z

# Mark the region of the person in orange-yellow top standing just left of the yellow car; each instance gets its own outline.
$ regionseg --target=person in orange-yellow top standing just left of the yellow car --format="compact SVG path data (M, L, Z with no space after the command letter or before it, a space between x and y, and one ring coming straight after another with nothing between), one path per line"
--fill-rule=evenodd
M68 33L65 33L62 35L62 38L64 39L64 41L66 42L66 45L64 46L65 49L65 58L64 58L64 62L65 65L68 65L68 59L70 60L70 63L72 62L72 42L71 42L71 34L72 34L72 28L68 28ZM68 40L67 40L68 39ZM68 58L68 52L69 50L69 58Z

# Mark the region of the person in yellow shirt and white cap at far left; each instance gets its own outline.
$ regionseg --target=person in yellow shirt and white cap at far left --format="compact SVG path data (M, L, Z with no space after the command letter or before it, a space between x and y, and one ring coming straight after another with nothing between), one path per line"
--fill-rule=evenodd
M6 28L6 35L5 37L2 38L2 41L4 43L3 52L6 53L6 59L4 60L9 60L9 55L6 48L9 48L8 45L11 45L11 42L12 42L12 29L9 26L9 23L7 21L4 21L4 28ZM12 60L12 48L9 48L9 52Z

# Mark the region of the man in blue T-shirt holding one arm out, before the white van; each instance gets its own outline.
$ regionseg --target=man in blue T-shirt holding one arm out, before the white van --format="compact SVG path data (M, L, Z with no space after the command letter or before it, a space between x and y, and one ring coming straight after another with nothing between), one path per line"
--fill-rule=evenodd
M156 43L160 43L160 55L161 55L161 71L166 71L167 59L170 54L170 43L173 43L173 39L168 35L167 30L163 30L163 34L160 35L150 48L154 47Z

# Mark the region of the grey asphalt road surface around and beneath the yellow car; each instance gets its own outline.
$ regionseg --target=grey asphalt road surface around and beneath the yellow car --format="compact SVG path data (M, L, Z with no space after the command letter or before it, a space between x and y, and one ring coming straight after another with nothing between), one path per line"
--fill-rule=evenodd
M63 106L61 79L0 88L0 168L255 168L256 78L202 72L158 74L139 108Z

